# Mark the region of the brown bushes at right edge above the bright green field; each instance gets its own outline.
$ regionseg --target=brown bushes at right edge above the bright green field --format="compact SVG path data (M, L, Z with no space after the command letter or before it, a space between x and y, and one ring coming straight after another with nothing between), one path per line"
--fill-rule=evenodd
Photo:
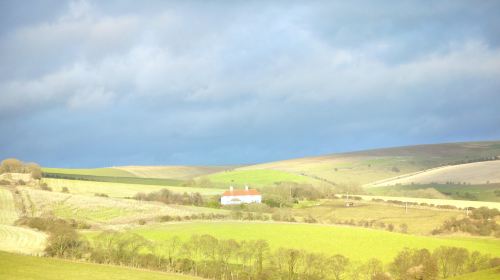
M496 217L500 216L497 209L481 207L472 209L469 217L462 219L450 218L443 225L432 231L432 234L467 232L472 235L500 237L500 226Z

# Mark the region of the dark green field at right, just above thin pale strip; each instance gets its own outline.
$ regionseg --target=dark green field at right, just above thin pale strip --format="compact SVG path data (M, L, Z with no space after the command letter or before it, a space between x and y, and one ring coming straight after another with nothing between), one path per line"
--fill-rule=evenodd
M423 198L445 198L500 202L500 184L413 184L384 186L366 189L369 194L383 196L408 196ZM497 195L497 193L499 195Z

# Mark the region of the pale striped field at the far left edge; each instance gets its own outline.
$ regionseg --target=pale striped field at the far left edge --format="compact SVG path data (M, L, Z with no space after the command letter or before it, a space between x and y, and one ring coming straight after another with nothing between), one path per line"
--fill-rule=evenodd
M0 250L39 255L47 235L33 229L14 226L18 214L12 193L0 187Z

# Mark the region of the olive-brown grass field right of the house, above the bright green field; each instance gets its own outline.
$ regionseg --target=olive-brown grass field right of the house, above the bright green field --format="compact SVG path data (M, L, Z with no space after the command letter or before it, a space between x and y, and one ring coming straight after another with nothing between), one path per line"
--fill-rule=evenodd
M452 217L461 217L460 211L443 211L432 208L414 208L410 206L408 212L404 207L386 203L368 201L355 201L354 207L345 207L344 200L324 201L321 205L301 207L293 210L293 214L301 217L312 216L320 221L338 222L354 220L383 222L393 224L395 231L400 230L400 225L408 226L408 233L425 235Z

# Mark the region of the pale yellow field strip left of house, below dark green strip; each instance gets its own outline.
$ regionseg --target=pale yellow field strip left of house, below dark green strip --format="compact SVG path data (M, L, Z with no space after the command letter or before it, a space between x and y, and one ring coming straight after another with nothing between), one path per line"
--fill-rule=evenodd
M67 179L54 179L43 178L43 182L52 188L53 191L60 192L63 187L68 188L70 193L95 195L96 193L104 193L110 197L133 197L139 192L150 193L162 189L167 189L176 193L200 193L201 195L220 195L225 190L214 188L191 188L191 187L174 187L174 186L160 186L160 185L142 185L142 184L126 184L126 183L112 183L112 182L95 182L83 180L67 180Z

